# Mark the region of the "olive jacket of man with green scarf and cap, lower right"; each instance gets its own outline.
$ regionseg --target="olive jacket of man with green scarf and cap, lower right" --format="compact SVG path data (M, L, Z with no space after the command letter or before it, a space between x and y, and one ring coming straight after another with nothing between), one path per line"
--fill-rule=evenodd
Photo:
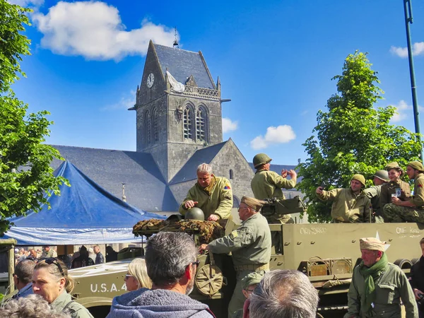
M348 291L348 313L345 318L368 317L360 310L361 293L365 289L365 278L359 266L353 270L352 283ZM399 266L388 263L386 269L375 281L375 317L401 317L401 299L404 302L406 318L418 318L415 296L404 272Z

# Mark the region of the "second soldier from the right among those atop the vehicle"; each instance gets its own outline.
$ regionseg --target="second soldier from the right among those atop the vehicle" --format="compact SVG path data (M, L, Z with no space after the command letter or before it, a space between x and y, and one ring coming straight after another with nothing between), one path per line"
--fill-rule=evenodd
M388 163L384 169L389 172L390 181L382 186L382 193L380 194L381 208L391 202L392 196L398 196L401 201L407 201L411 197L411 187L409 187L408 182L401 180L404 170L399 167L396 161Z

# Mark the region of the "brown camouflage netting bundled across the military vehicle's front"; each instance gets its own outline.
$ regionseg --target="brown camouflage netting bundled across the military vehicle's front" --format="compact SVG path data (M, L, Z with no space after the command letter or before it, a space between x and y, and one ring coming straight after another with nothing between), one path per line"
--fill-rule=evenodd
M182 231L189 234L199 234L199 244L208 244L224 236L224 228L215 221L180 220L171 223L169 220L151 218L150 220L140 221L133 227L133 234L136 236L152 235L159 231Z

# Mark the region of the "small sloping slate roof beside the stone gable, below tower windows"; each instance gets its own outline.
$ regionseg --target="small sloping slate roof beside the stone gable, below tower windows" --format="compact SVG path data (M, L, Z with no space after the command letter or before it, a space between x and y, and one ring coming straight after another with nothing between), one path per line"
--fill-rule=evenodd
M177 175L172 178L170 185L196 179L196 167L201 163L211 163L212 159L215 158L227 142L223 141L222 143L197 150L177 172Z

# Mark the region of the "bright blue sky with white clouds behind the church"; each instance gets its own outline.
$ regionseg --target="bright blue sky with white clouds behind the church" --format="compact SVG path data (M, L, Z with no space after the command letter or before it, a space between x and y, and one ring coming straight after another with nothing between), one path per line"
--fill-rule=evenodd
M220 78L223 139L245 158L305 161L317 112L336 93L335 75L355 50L368 52L392 124L415 131L403 0L49 1L33 8L25 35L26 78L13 85L30 112L48 110L47 143L136 150L135 91L148 41L204 54ZM411 0L418 102L424 105L424 1ZM423 123L423 116L420 115ZM421 124L424 127L424 123ZM421 129L423 131L423 129Z

